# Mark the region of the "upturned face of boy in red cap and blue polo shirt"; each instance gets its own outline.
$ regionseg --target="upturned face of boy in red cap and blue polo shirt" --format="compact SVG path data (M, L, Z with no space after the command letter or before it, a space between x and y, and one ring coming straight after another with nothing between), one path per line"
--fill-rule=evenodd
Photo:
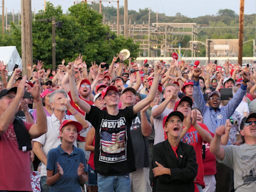
M67 124L62 128L59 136L62 138L62 142L64 140L66 142L73 143L76 140L77 135L76 126L73 124Z

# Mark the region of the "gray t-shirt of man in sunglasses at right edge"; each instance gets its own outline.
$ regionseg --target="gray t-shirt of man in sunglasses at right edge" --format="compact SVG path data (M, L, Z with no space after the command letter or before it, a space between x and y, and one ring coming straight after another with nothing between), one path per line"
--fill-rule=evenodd
M234 170L236 192L256 191L256 145L241 144L223 146L225 155L218 162Z

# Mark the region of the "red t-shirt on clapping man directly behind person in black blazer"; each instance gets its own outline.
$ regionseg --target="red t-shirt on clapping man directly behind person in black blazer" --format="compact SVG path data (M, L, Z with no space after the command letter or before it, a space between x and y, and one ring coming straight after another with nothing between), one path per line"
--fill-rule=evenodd
M203 129L208 130L207 126L203 123L198 123ZM203 164L202 164L202 137L199 135L198 131L191 125L190 128L186 131L182 141L190 144L194 147L196 163L198 164L198 170L195 177L194 183L202 185L204 188L203 181Z

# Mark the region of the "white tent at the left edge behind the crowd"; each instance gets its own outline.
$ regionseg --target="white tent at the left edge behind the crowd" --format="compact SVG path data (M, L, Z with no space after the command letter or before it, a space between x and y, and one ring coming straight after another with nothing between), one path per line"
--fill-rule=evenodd
M13 70L15 64L18 65L18 68L22 68L21 58L16 46L0 46L0 60L7 65L9 72Z

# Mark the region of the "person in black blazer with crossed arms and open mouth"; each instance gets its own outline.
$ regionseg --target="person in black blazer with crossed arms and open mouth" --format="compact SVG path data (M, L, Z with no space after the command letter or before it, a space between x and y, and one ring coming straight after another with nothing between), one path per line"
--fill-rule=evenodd
M165 116L163 128L167 139L153 146L156 191L194 191L197 164L193 147L180 141L183 119L179 111Z

